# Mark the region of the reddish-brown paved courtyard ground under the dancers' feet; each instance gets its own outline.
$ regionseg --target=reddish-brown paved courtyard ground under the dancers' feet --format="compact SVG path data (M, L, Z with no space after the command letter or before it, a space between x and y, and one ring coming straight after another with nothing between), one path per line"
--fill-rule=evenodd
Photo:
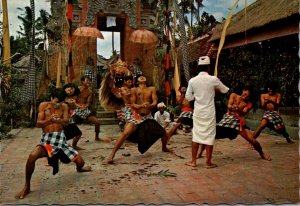
M262 134L260 143L272 161L262 160L248 149L241 137L218 140L213 162L217 168L204 168L205 158L196 168L187 167L191 158L191 134L179 131L170 145L175 154L161 152L157 141L141 155L132 143L117 152L115 164L103 159L112 143L95 142L94 128L80 125L83 138L79 146L91 173L77 173L75 164L60 164L52 175L47 159L37 161L31 193L23 199L15 195L23 188L25 164L38 144L41 129L22 129L15 138L2 140L0 155L0 204L298 204L299 147L283 138ZM116 139L115 125L101 127L102 137ZM130 156L123 156L124 151Z

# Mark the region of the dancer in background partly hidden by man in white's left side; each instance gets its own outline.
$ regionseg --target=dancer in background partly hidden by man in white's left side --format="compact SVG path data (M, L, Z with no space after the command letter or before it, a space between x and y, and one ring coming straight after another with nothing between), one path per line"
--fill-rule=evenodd
M187 125L186 132L189 132L193 127L193 108L190 106L190 102L185 98L186 86L179 87L180 95L176 97L177 105L180 106L181 113L173 125L173 127L168 132L168 138L170 139L172 135L176 132L177 128L182 125Z

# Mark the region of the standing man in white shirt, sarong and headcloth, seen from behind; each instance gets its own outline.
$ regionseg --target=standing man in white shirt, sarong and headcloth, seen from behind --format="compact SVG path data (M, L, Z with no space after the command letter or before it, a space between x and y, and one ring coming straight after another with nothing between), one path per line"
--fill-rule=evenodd
M211 162L213 145L216 136L216 110L215 92L228 92L226 87L217 77L209 72L210 59L208 56L199 58L198 70L200 73L190 79L186 91L188 101L195 100L193 114L192 160L186 165L196 167L196 157L199 145L205 145L206 168L217 167Z

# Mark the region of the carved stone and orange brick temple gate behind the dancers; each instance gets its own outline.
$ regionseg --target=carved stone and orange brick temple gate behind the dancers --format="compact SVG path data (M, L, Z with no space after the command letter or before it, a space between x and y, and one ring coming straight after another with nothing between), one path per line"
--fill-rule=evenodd
M66 14L68 20L62 12ZM154 55L156 45L140 45L129 41L131 33L137 28L153 27L155 13L148 3L140 3L140 0L69 0L68 3L52 0L51 13L52 30L54 33L61 33L59 43L50 37L52 48L49 53L50 70L53 71L50 72L51 79L60 76L64 82L78 81L85 70L86 59L91 57L97 62L97 40L72 35L80 26L92 26L100 31L120 32L120 58L128 64L139 58L142 62L141 69L151 83L153 70L151 57ZM114 26L107 26L108 18L115 19ZM57 22L63 27L55 27ZM72 71L68 68L70 59Z

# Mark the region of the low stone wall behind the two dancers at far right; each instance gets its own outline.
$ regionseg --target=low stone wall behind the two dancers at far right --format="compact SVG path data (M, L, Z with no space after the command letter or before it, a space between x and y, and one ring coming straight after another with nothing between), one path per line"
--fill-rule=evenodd
M292 139L299 138L299 107L282 107L280 108L280 114ZM263 111L257 109L255 112L251 111L245 116L245 121L247 126L252 130L257 128L260 124L261 118L263 116ZM269 128L263 130L264 133L269 133L272 135L278 135L276 132L271 131Z

